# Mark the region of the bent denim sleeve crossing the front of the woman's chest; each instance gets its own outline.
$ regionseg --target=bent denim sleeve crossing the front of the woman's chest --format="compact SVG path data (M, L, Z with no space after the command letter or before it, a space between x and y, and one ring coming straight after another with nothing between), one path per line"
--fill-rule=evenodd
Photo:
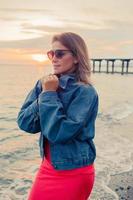
M65 143L80 133L98 103L98 95L91 86L83 87L64 111L56 91L39 95L41 131L51 143Z

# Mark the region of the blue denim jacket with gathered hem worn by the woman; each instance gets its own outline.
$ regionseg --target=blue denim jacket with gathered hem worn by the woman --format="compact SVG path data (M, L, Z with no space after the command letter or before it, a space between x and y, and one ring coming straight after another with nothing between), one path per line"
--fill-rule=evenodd
M27 95L17 117L20 129L40 132L39 147L45 156L46 138L55 169L74 169L92 164L98 94L94 86L80 84L74 73L59 77L56 91L42 91L40 80Z

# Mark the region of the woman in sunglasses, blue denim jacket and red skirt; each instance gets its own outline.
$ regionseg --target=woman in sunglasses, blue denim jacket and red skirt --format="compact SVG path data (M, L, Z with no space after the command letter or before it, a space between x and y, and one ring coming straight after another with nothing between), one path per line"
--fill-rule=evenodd
M54 35L54 74L42 77L18 114L20 129L40 133L42 162L28 200L87 200L94 185L98 94L81 36Z

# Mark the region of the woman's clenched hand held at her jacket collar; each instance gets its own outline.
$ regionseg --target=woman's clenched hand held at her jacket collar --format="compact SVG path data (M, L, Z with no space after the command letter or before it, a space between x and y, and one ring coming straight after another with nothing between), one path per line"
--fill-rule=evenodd
M40 79L43 91L52 90L56 91L59 86L58 77L55 74L43 76Z

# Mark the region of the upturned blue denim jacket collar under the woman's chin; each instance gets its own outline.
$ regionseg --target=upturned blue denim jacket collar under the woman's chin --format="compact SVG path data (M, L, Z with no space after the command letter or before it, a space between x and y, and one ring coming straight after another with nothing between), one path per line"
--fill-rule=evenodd
M76 75L75 73L69 73L69 74L63 74L63 75L58 75L59 77L59 85L61 88L65 89L67 86L68 81L71 79L73 81L76 80Z

